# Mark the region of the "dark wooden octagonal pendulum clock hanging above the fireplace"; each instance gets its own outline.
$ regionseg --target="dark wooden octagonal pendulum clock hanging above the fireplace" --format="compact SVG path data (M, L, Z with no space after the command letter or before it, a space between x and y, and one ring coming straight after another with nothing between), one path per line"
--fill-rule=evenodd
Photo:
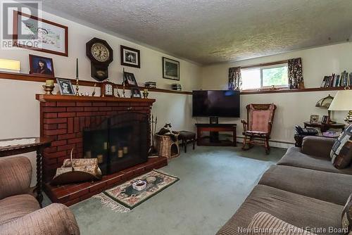
M87 57L91 61L91 76L99 82L108 78L108 65L113 62L113 49L103 40L94 37L86 44Z

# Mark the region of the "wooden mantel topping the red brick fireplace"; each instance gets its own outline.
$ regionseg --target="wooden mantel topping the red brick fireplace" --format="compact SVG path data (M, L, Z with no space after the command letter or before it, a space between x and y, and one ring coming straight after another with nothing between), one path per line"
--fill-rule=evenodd
M115 98L115 97L100 97L100 96L63 96L63 95L46 95L36 94L35 99L40 102L55 102L55 101L77 101L77 102L137 102L137 103L154 103L155 99L138 99L138 98Z

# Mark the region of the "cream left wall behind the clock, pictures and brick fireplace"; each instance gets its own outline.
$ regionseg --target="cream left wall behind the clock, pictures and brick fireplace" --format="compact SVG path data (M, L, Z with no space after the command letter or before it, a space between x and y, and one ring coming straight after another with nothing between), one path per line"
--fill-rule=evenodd
M95 81L90 77L90 61L86 56L85 44L93 37L104 39L113 48L114 61L109 65L109 79L115 83L122 83L122 65L120 65L120 45L130 46L141 51L141 68L125 67L127 72L133 72L139 85L146 81L157 82L158 88L170 89L170 84L178 82L165 80L162 76L162 57L180 61L180 84L184 91L198 89L201 86L201 67L195 63L168 56L144 46L139 46L120 39L111 34L65 20L56 15L43 13L42 17L62 25L68 26L69 56L56 56L26 49L1 50L0 58L20 61L21 71L29 72L29 54L53 58L56 77L75 77L75 60L79 60L80 79ZM57 88L56 88L57 90ZM55 90L55 91L56 91ZM80 87L80 91L92 93L93 87ZM34 95L43 93L42 83L15 80L0 80L0 139L18 138L25 136L39 136L39 102ZM99 90L97 92L99 94ZM191 118L191 96L183 94L165 94L151 92L151 98L156 99L153 105L153 115L158 117L158 129L165 122L171 122L175 129L194 129ZM34 154L28 155L34 164ZM35 172L35 167L34 167ZM33 172L33 175L34 175ZM34 178L34 177L33 177Z

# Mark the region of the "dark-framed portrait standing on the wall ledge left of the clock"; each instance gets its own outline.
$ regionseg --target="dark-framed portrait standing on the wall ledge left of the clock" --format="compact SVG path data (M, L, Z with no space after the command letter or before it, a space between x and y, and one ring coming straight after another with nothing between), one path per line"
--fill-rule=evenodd
M53 59L30 55L30 74L44 77L54 77Z

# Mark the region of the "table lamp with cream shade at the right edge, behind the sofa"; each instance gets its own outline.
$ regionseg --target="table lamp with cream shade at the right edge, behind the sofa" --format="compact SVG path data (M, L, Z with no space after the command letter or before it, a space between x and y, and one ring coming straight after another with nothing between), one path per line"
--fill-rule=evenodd
M345 122L352 123L352 90L346 89L344 91L337 91L336 96L329 106L329 110L334 111L348 111Z

